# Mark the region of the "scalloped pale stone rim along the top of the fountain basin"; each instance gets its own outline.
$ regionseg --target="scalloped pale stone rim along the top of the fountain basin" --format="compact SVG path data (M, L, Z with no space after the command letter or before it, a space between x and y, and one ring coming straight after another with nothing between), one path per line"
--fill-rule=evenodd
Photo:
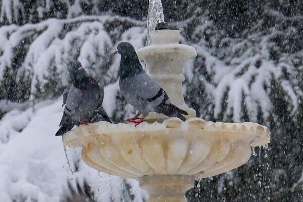
M97 128L96 128L97 127ZM254 135L257 138L251 142L252 147L264 146L270 142L270 131L266 126L262 126L253 122L244 123L222 123L222 122L206 122L200 118L189 118L185 122L179 118L172 117L166 119L163 123L147 123L143 122L138 126L135 124L118 123L111 124L109 122L100 121L89 125L81 125L78 128L69 131L63 136L63 144L70 145L69 142L78 138L93 136L96 133L89 133L89 129L94 128L99 134L113 133L130 133L130 132L144 132L144 131L160 131L160 130L201 130L210 132L229 132L241 133L246 135ZM173 133L171 134L173 135Z

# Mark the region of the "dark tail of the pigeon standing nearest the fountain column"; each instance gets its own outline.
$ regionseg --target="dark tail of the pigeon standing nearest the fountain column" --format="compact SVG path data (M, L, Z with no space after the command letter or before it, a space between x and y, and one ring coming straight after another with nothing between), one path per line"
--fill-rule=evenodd
M160 111L160 113L168 116L168 117L178 117L182 121L186 121L186 118L183 115L188 115L188 113L184 110L181 110L177 106L173 104L165 104L161 103L157 106L157 110Z

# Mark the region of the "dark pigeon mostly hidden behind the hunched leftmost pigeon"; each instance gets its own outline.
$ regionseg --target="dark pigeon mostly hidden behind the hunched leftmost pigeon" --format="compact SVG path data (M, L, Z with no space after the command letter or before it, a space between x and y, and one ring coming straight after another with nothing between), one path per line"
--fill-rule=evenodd
M90 123L95 123L98 121L107 121L107 122L111 122L108 114L106 113L105 109L102 107L102 102L103 102L103 97L104 97L104 89L103 86L101 86L99 84L99 88L100 88L100 101L99 101L99 106L97 107L97 109L92 113L92 115L89 118L89 122ZM66 104L66 99L68 96L68 92L65 92L63 94L63 103L62 106L64 106Z

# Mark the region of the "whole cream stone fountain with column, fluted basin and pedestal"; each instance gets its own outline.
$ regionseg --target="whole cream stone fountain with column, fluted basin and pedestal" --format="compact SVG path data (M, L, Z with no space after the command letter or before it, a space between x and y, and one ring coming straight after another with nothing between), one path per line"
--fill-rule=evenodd
M194 180L219 175L246 163L251 148L270 141L267 127L257 123L206 122L186 106L182 94L183 65L196 56L178 43L180 31L150 32L151 45L137 51L150 75L173 104L188 112L185 122L149 113L147 122L81 125L63 136L64 146L81 147L90 167L137 179L150 194L148 201L187 201Z

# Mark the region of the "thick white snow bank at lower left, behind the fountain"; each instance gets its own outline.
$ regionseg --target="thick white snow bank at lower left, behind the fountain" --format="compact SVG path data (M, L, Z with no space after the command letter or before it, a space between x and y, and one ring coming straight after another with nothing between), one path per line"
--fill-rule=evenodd
M68 183L76 187L86 180L96 201L121 201L121 178L98 173L80 157L79 149L67 148L67 163L62 138L54 134L62 116L62 98L45 101L26 111L12 110L0 122L0 201L60 201L69 194ZM109 105L106 105L109 106ZM75 163L79 167L76 171ZM148 195L135 180L125 179L132 187L134 201ZM127 197L127 194L126 196ZM26 199L26 200L22 200Z

